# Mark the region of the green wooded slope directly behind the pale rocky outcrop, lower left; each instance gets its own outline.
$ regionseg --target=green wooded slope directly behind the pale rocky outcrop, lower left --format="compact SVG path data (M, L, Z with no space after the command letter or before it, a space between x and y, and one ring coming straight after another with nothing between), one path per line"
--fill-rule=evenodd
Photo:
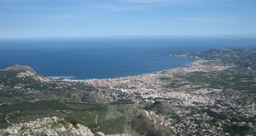
M92 129L92 132L102 131L107 134L121 134L124 132L126 118L124 116L116 119L106 119L107 112L116 112L107 110L107 106L97 104L84 104L64 101L19 101L10 105L0 106L0 129L6 128L8 120L12 123L24 122L47 116L59 116L70 124L84 124ZM97 119L96 119L97 118ZM97 120L97 124L96 124ZM111 128L111 129L110 129Z

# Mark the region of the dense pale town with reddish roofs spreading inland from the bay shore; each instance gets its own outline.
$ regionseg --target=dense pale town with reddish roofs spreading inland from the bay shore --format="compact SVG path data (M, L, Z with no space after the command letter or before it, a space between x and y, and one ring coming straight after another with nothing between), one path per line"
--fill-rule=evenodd
M187 92L186 87L173 88L168 86L161 78L167 78L175 81L177 75L185 75L192 72L211 72L211 71L221 71L227 68L232 68L233 66L213 66L204 65L204 63L209 63L206 60L197 60L196 62L189 63L188 68L170 68L160 72L141 74L132 77L120 77L111 79L90 79L83 80L79 82L84 82L92 87L97 87L100 91L105 89L109 91L121 91L126 93L128 96L139 97L142 100L154 103L155 101L171 101L173 98L181 101L185 101L183 105L193 106L193 102L201 104L214 103L211 97L204 95L205 92L211 91L221 91L214 88L202 88L195 89L194 93ZM71 81L72 82L72 81ZM78 81L76 81L78 82ZM198 94L201 93L201 94ZM136 100L136 102L140 102Z

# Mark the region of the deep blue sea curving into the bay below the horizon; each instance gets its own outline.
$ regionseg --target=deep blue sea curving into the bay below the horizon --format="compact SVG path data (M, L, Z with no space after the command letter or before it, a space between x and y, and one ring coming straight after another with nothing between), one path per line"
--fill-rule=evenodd
M45 77L102 79L187 67L195 61L170 54L255 47L254 38L1 39L0 68L28 65Z

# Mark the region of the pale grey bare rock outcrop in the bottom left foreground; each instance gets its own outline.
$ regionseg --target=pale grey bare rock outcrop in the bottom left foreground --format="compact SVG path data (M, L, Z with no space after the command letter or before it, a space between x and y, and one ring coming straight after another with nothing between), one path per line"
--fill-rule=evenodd
M14 124L7 129L0 129L0 135L47 135L47 136L93 136L91 130L82 124L69 124L58 117L48 117L30 121L27 123Z

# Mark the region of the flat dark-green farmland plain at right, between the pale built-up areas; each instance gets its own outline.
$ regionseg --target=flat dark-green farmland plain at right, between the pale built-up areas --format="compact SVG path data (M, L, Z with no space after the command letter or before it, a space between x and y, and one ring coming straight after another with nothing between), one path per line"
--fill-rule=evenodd
M256 73L252 73L247 68L229 68L223 71L210 73L195 72L189 73L186 77L187 81L201 86L235 90L243 93L255 95Z

